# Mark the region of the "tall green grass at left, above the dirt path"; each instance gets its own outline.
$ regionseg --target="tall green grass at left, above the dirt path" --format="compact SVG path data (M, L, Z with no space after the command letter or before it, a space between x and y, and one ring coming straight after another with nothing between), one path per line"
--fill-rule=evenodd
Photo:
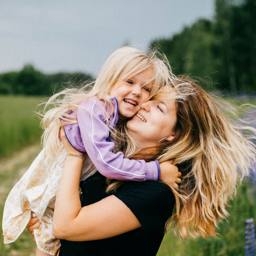
M33 111L42 97L0 95L0 158L39 143L42 130Z

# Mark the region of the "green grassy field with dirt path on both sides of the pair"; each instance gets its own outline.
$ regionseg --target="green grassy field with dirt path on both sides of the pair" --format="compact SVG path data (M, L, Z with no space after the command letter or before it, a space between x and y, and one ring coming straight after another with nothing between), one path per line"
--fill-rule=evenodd
M2 126L0 126L1 223L4 202L9 191L40 151L39 142L42 130L39 128L39 119L35 116L33 109L42 100L41 97L0 96L2 106L0 110L2 120ZM32 144L38 146L32 151L24 148ZM25 157L19 158L20 161L12 164L11 167L1 168L5 166L7 160L17 159L17 155L21 151ZM255 191L255 183L250 181L238 188L234 201L230 201L232 206L229 208L230 216L228 220L220 223L218 230L220 235L217 238L179 240L173 235L173 231L169 230L157 255L245 255L245 220L252 217L256 221ZM34 255L34 252L35 244L26 230L16 242L8 245L3 244L3 237L1 236L0 256L30 256Z

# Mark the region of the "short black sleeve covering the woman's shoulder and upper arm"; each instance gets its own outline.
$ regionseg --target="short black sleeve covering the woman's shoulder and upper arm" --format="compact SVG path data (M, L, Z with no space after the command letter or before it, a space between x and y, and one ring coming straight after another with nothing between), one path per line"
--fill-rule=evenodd
M175 203L169 186L158 181L129 181L122 184L113 194L130 208L146 230L163 231Z

